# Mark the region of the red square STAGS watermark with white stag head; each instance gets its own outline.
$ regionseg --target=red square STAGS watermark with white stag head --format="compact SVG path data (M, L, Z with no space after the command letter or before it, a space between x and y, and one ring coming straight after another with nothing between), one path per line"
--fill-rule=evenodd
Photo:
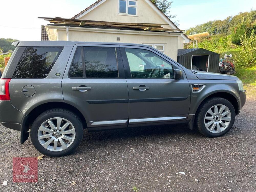
M13 182L37 182L36 157L13 157Z

